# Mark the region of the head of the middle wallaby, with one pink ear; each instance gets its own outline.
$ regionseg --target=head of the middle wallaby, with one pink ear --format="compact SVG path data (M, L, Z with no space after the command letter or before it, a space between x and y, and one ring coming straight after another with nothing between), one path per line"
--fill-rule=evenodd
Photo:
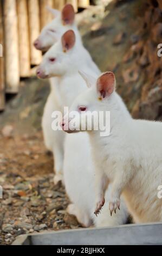
M67 31L50 50L44 55L41 65L36 74L38 78L50 78L54 76L63 76L70 69L74 71L74 61L77 58L75 52L75 33L72 30Z

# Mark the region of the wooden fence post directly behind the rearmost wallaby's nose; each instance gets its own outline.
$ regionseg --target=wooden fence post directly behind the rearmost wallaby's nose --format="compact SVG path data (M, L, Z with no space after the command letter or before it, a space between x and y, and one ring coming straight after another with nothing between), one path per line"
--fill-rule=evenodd
M30 61L31 65L39 65L42 60L41 51L34 47L34 41L40 35L40 8L38 0L28 0L29 9L29 35L30 35Z

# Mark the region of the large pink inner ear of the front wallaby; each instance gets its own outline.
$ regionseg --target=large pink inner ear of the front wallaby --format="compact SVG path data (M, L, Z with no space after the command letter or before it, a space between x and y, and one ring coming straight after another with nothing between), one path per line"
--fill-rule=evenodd
M98 78L97 90L103 99L114 92L115 86L116 80L113 72L106 72Z

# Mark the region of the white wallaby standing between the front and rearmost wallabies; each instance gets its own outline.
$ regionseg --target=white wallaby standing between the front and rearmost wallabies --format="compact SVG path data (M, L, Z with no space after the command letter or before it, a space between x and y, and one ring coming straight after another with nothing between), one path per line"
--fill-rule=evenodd
M70 106L76 96L86 90L86 82L79 75L79 69L96 76L96 71L89 68L88 58L92 61L85 48L77 44L77 38L73 31L64 33L61 40L45 54L43 62L37 70L37 75L40 78L58 77L60 106ZM95 203L95 192L94 166L86 133L67 136L63 169L64 184L72 202L68 207L68 212L76 215L79 222L88 227L93 220L92 209ZM109 217L108 208L104 209L105 213L102 212L97 221L95 219L96 226L117 225L126 222L127 211L124 205L122 211L113 218Z

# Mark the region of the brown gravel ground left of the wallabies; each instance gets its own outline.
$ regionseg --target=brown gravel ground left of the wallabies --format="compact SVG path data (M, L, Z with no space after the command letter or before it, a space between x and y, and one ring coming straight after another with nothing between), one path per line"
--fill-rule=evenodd
M1 245L21 234L81 227L67 214L68 198L61 184L54 186L53 177L53 156L44 148L41 132L0 133Z

